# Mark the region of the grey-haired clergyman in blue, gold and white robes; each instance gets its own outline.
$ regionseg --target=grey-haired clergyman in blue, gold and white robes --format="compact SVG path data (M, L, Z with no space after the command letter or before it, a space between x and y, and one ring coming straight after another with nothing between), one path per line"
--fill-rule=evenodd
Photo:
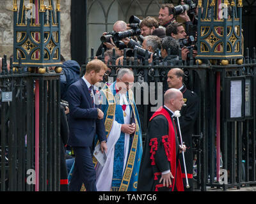
M116 81L108 85L105 84L100 91L108 152L103 163L96 162L96 186L98 191L136 191L142 138L131 90L133 72L120 69Z

